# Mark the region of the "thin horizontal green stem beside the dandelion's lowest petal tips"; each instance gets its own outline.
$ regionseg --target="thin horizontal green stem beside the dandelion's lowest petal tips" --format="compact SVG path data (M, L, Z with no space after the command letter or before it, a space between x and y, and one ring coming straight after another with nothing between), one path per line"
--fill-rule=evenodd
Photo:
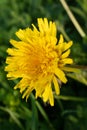
M54 97L55 97L55 99L61 99L61 100L65 100L65 101L79 101L79 102L87 101L87 98L74 97L74 96L54 95Z

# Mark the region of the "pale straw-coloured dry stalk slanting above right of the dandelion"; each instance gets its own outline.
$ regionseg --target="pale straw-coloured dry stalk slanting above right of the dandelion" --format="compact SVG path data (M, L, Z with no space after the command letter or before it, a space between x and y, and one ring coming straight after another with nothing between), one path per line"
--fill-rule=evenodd
M78 21L76 20L75 16L71 12L71 10L70 10L69 6L67 5L66 1L65 0L60 0L60 2L62 4L62 6L64 7L64 9L66 10L70 20L74 24L74 26L77 29L78 33L81 35L81 37L85 37L86 36L85 32L83 31L83 29L79 25Z

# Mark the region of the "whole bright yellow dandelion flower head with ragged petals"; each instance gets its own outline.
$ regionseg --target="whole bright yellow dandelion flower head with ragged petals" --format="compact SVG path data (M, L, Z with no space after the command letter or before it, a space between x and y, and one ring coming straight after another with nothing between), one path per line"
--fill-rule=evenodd
M41 97L44 102L54 105L53 88L56 94L60 93L58 80L67 82L64 71L72 71L67 64L73 60L68 58L72 41L64 42L63 36L56 38L55 23L48 22L47 18L38 18L38 29L20 29L16 32L20 41L11 39L13 48L8 48L8 57L5 71L9 79L21 78L14 87L19 88L23 98L29 97L35 90L35 96Z

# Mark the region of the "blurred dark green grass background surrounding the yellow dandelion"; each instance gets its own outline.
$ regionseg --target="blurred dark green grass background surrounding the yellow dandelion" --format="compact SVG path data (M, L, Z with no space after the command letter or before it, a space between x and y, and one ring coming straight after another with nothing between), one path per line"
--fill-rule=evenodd
M66 2L85 37L79 35L59 0L0 0L0 130L87 129L87 0ZM55 97L54 107L35 100L32 94L26 103L19 91L13 90L17 81L8 81L4 72L9 39L16 39L19 28L36 24L38 17L55 21L58 35L73 40L71 56L81 69L67 74L69 81Z

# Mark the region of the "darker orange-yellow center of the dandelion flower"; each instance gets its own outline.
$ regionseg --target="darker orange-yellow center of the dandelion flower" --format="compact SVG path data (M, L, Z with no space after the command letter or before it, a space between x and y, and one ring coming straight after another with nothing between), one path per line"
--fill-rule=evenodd
M34 47L28 57L28 74L30 77L38 78L52 74L57 65L57 54L52 48Z

